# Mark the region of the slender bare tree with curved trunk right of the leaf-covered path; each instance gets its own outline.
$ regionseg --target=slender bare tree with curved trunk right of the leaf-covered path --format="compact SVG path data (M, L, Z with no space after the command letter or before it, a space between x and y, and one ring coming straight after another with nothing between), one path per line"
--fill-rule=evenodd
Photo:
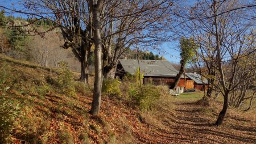
M235 79L241 67L238 63L243 57L255 54L255 35L252 28L255 23L247 13L250 9L232 11L242 5L243 2L236 0L199 1L188 11L180 11L184 22L180 24L183 34L192 36L199 44L198 56L209 66L212 78L220 81L220 84L213 81L210 85L224 96L223 108L216 125L221 125L224 120L230 94L240 83L250 78L243 73L240 75L241 79Z

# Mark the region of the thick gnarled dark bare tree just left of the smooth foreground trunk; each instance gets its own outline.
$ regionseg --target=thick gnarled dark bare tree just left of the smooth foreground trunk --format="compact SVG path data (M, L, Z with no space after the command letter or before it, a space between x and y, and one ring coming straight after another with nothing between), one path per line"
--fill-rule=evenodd
M88 57L92 47L91 14L85 0L76 1L24 1L24 6L32 12L23 12L40 19L51 20L63 34L63 48L71 48L81 63L81 82L88 82ZM86 23L85 23L86 22Z

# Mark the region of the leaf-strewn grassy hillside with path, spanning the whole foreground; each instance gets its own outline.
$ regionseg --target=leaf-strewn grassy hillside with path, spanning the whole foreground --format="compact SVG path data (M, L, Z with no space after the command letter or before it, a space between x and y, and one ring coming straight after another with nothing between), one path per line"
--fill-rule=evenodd
M127 99L129 82L123 82L122 95L104 93L101 113L92 117L88 113L92 79L89 86L71 79L60 87L54 83L61 75L65 74L65 79L79 75L2 55L0 65L0 95L19 109L12 124L12 143L256 142L255 111L229 109L224 125L213 126L221 103L207 107L196 102L202 98L200 92L173 98L166 88L157 87L160 98L150 109L141 111ZM75 89L69 90L68 84Z

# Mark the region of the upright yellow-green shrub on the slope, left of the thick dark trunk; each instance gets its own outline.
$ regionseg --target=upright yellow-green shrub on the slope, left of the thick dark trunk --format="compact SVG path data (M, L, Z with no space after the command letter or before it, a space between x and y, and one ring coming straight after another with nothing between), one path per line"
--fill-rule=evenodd
M68 69L68 64L60 62L59 67L61 71L57 78L57 87L60 89L61 93L75 96L75 80L71 71Z

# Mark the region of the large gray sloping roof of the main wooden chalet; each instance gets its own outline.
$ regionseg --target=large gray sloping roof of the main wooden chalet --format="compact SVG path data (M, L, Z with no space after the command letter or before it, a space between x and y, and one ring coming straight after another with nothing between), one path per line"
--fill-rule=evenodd
M123 69L130 74L135 74L138 67L144 76L175 77L179 73L166 60L119 60L119 62Z

